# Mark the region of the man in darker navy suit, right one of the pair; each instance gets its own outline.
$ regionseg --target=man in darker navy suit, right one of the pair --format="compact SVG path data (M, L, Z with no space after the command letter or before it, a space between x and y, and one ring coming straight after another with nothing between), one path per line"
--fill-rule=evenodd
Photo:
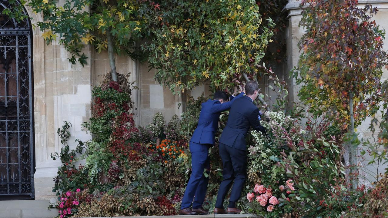
M255 81L245 85L246 95L236 99L230 108L229 118L220 137L220 156L223 163L223 180L218 190L214 214L224 214L223 201L233 184L226 213L240 213L235 203L241 196L241 191L246 180L246 142L245 137L249 128L265 133L265 128L260 125L259 109L253 104L258 95L259 86Z

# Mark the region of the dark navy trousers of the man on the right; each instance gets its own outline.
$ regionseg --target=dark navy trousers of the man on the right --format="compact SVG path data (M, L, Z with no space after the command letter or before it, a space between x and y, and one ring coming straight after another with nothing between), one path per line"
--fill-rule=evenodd
M230 192L230 202L237 202L241 196L242 189L246 180L246 163L247 155L246 151L229 147L228 145L220 143L218 145L220 150L220 156L223 163L223 180L218 190L216 208L223 208L223 201L226 194L232 186Z

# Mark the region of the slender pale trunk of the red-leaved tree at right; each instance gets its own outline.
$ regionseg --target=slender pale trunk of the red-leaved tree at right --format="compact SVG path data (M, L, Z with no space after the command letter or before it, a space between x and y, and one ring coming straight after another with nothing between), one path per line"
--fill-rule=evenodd
M354 113L353 113L353 97L354 94L349 92L349 115L350 115L350 133L354 133ZM357 189L359 178L358 178L358 163L357 163L357 147L349 143L349 164L350 164L350 173L353 173L352 189ZM357 175L357 176L356 176Z

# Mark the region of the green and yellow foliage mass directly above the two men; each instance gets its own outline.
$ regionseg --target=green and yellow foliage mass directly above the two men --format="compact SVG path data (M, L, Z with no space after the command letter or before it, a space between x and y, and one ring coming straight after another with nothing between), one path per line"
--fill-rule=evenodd
M262 24L253 0L160 3L150 9L153 40L143 48L156 68L156 80L171 91L210 81L213 89L231 88L239 74L258 73L274 23ZM176 89L177 88L177 89Z

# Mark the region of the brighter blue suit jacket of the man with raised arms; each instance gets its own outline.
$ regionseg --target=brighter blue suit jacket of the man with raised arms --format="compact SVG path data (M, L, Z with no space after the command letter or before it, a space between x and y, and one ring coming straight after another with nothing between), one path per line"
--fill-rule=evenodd
M218 121L221 111L230 109L234 100L244 96L244 92L234 97L229 102L221 104L218 100L209 99L202 103L201 112L199 113L198 126L194 130L190 142L198 144L214 144L214 136L218 129Z

